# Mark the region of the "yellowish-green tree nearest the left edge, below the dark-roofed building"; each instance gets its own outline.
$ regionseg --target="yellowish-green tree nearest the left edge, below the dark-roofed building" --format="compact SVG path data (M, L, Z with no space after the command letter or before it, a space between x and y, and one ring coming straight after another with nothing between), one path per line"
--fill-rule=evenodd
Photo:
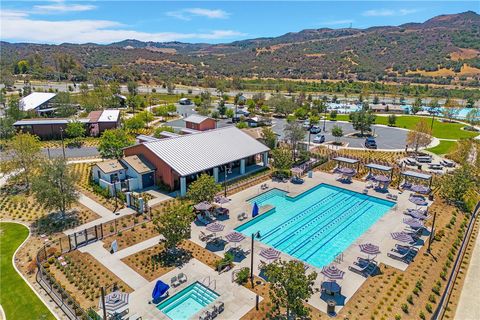
M41 144L37 136L30 133L18 133L7 144L6 166L11 171L17 171L14 177L23 180L30 187L30 177L41 158Z

